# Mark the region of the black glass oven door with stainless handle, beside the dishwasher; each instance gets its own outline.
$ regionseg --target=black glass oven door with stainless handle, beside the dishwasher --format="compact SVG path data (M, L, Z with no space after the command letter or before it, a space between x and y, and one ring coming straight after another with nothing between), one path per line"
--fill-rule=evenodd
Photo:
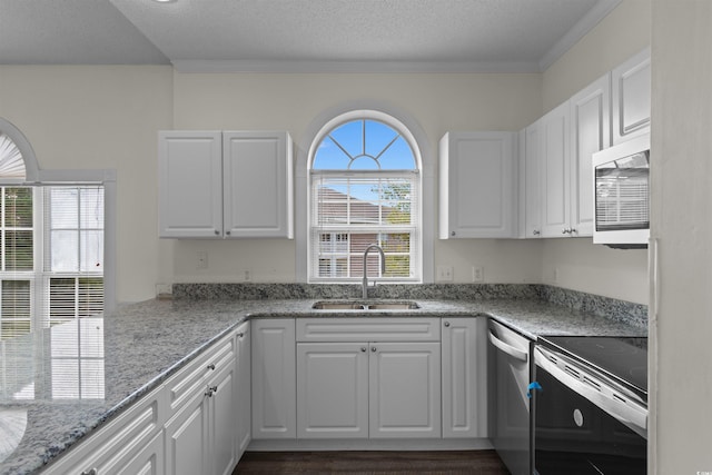
M601 393L614 399L623 393L600 387L606 382L567 358L562 364L561 358L538 346L534 350L535 380L541 386L533 403L534 473L645 475L646 408L625 400L603 409Z

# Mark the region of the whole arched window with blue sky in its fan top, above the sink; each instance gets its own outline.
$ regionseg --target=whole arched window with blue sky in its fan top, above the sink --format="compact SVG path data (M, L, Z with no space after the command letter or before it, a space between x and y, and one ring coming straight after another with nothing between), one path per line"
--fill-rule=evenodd
M309 160L309 281L422 280L421 154L395 118L360 110L317 133Z

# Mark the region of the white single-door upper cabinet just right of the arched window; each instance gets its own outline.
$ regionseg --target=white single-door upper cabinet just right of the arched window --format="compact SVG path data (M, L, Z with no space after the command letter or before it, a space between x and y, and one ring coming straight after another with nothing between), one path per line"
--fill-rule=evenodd
M448 132L439 144L439 237L511 238L515 132Z

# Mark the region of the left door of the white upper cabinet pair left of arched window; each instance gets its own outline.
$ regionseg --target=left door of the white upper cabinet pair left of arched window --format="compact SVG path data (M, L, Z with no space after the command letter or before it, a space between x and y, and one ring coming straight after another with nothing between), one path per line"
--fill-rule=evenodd
M158 178L160 237L221 237L220 131L160 131Z

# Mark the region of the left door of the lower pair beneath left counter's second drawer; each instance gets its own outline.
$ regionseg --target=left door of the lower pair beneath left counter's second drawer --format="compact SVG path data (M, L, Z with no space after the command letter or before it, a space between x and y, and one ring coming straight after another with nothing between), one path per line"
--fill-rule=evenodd
M166 424L166 473L209 473L208 424L208 398L200 393Z

